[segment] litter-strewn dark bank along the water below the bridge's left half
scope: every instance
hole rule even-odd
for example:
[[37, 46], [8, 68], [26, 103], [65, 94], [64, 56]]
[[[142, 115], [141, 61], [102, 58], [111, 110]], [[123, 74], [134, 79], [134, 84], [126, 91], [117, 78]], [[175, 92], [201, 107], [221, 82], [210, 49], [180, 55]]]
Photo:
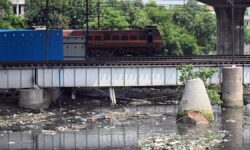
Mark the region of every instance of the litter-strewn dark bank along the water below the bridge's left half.
[[[138, 106], [129, 104], [118, 108], [111, 108], [105, 105], [103, 108], [98, 108], [95, 105], [96, 101], [92, 100], [69, 100], [64, 101], [64, 103], [65, 106], [63, 108], [51, 107], [39, 111], [22, 109], [15, 105], [1, 104], [0, 130], [15, 132], [40, 128], [48, 132], [81, 131], [90, 126], [97, 125], [113, 128], [115, 124], [119, 125], [127, 120], [164, 116], [162, 113], [141, 112], [143, 110], [136, 110]], [[8, 109], [3, 109], [4, 107]]]

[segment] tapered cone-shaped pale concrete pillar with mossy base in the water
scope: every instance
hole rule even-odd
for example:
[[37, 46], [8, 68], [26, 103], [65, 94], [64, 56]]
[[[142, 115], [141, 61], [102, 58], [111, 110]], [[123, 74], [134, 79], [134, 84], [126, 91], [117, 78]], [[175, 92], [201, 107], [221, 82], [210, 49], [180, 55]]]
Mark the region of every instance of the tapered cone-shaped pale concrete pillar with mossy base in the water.
[[213, 110], [203, 81], [188, 80], [177, 112], [177, 120], [188, 112], [200, 112], [207, 120], [214, 120]]

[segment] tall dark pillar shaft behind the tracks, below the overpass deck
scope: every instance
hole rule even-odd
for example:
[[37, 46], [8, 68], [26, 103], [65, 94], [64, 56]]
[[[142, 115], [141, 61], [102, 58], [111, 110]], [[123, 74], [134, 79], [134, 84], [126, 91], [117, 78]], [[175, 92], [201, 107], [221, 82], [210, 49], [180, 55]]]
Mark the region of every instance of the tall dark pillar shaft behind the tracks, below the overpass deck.
[[214, 7], [217, 17], [217, 54], [231, 55], [234, 49], [235, 55], [244, 54], [244, 13], [246, 7], [235, 7], [234, 32], [235, 44], [232, 45], [232, 8], [231, 7]]

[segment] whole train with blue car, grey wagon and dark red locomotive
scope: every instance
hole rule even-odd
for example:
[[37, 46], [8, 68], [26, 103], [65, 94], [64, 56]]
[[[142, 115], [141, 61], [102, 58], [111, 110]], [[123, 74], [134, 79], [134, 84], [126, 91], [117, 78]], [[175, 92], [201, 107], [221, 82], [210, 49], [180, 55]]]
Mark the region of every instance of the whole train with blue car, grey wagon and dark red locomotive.
[[0, 30], [0, 61], [161, 55], [156, 27], [129, 30]]

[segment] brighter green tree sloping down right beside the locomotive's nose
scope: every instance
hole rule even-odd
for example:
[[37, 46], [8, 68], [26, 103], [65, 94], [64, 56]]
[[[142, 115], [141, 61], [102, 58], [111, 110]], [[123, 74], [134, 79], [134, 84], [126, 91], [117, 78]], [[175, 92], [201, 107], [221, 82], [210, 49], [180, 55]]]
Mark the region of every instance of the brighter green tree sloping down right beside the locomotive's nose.
[[[176, 9], [176, 8], [175, 8]], [[186, 28], [174, 22], [172, 8], [166, 9], [150, 1], [144, 8], [153, 25], [157, 25], [165, 43], [164, 54], [167, 55], [198, 55], [200, 54], [197, 40], [189, 34]], [[183, 11], [178, 11], [183, 13]], [[177, 16], [177, 15], [176, 15]], [[184, 15], [180, 15], [185, 17]], [[183, 21], [184, 20], [184, 21]], [[186, 21], [185, 21], [186, 20]], [[187, 24], [188, 19], [179, 18], [177, 21]]]

